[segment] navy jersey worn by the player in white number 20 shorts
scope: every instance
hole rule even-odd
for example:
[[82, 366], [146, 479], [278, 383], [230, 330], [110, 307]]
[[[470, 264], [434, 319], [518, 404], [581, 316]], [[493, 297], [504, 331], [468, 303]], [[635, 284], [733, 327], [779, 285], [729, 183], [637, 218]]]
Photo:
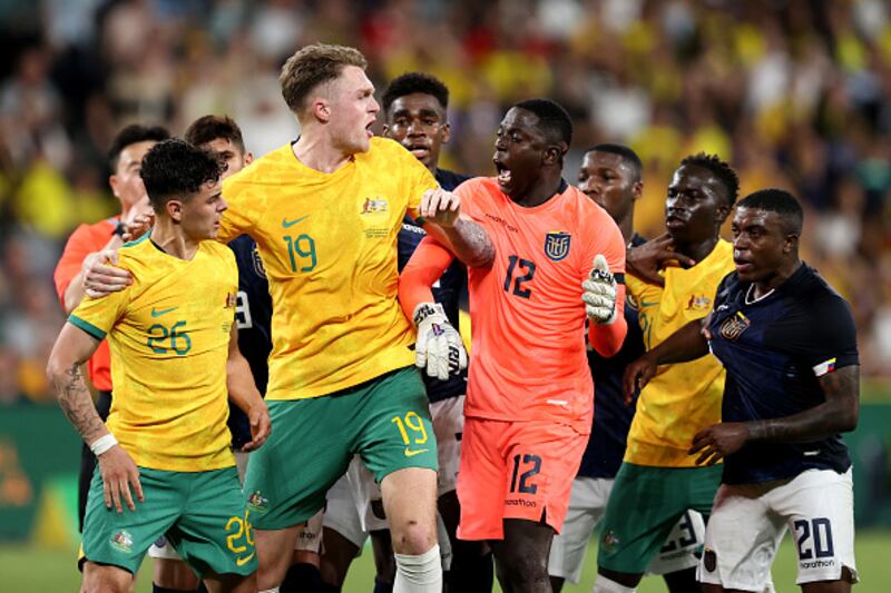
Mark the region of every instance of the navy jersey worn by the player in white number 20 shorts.
[[[825, 401], [819, 376], [859, 364], [848, 303], [810, 266], [753, 302], [754, 287], [736, 273], [718, 286], [708, 323], [709, 346], [727, 369], [723, 422], [799, 414]], [[812, 443], [752, 443], [724, 461], [724, 482], [793, 477], [805, 470], [845, 472], [840, 435]]]

